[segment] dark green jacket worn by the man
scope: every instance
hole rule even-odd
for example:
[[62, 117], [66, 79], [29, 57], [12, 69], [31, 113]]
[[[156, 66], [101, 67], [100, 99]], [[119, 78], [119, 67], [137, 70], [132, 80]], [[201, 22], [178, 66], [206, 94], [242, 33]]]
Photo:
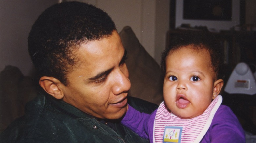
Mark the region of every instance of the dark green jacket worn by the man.
[[[129, 97], [128, 103], [141, 112], [151, 113], [157, 108], [157, 105], [138, 98]], [[0, 135], [0, 141], [8, 143], [149, 142], [119, 122], [112, 125], [116, 131], [63, 101], [38, 95], [26, 105], [25, 115], [9, 125]]]

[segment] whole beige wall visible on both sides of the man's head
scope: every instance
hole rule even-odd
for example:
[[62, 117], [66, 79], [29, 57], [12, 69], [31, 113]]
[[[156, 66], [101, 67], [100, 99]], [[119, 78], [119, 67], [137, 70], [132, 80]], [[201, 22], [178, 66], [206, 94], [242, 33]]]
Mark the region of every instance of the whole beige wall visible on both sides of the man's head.
[[[60, 0], [61, 1], [61, 0]], [[106, 11], [120, 32], [131, 26], [147, 52], [160, 63], [169, 26], [169, 0], [80, 0]], [[30, 75], [27, 37], [36, 18], [58, 0], [0, 0], [0, 71], [5, 65]]]

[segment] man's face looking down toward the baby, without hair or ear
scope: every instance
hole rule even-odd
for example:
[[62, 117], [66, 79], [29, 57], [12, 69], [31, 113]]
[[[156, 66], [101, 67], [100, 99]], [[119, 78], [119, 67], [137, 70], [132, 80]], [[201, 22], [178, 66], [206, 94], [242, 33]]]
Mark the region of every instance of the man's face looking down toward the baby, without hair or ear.
[[63, 101], [101, 119], [119, 119], [127, 109], [131, 87], [125, 64], [125, 49], [117, 31], [101, 40], [82, 44], [79, 61], [67, 74]]

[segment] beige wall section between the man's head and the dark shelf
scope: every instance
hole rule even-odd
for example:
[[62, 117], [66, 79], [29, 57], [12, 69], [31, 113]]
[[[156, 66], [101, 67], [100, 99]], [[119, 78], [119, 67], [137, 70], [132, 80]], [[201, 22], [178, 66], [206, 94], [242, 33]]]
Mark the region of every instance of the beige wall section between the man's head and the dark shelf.
[[[72, 1], [72, 0], [68, 0]], [[160, 63], [169, 29], [169, 0], [80, 0], [106, 11], [117, 26], [132, 27], [147, 52]]]

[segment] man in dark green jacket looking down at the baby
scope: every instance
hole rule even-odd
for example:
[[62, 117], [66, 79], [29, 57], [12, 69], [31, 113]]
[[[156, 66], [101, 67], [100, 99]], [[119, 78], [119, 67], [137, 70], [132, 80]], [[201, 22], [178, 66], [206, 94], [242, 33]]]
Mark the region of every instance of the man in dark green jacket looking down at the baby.
[[44, 92], [1, 141], [148, 142], [119, 123], [127, 102], [147, 113], [157, 106], [127, 97], [126, 51], [107, 13], [86, 3], [55, 4], [32, 26], [28, 49]]

